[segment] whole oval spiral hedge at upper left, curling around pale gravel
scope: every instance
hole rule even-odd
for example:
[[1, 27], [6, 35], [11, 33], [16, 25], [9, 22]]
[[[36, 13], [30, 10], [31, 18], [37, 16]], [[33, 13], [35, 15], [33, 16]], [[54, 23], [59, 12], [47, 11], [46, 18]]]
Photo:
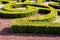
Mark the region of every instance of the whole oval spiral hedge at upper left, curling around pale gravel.
[[[18, 4], [18, 5], [17, 5]], [[25, 3], [8, 3], [5, 4], [3, 10], [0, 10], [0, 16], [14, 18], [14, 17], [27, 17], [38, 13], [39, 9], [44, 12], [49, 10], [48, 6], [38, 5], [38, 4], [25, 4]], [[12, 6], [13, 5], [13, 6]], [[28, 6], [29, 5], [29, 6]], [[12, 6], [12, 7], [11, 7]], [[14, 10], [14, 8], [25, 7], [26, 10]]]

